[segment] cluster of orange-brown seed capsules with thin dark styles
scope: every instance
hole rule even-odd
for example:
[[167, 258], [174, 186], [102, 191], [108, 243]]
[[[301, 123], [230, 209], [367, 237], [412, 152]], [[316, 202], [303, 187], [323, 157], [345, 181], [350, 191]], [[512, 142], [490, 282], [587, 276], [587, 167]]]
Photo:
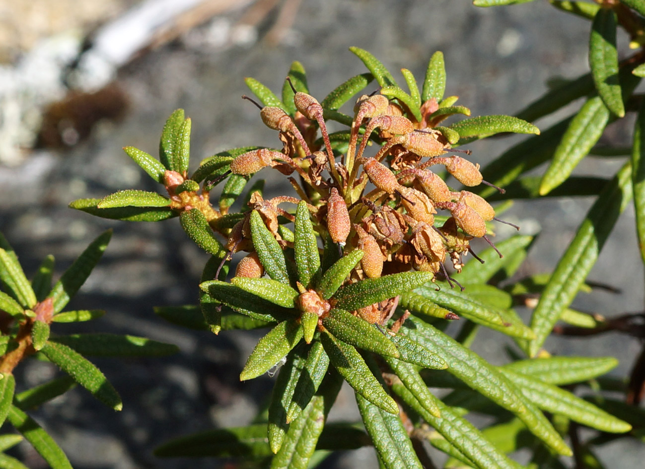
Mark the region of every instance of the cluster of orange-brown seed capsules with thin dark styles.
[[[266, 166], [285, 175], [299, 175], [299, 180], [291, 176], [288, 180], [300, 198], [264, 200], [255, 194], [249, 203], [281, 246], [286, 248], [291, 243], [281, 236], [278, 217], [293, 221], [293, 216], [279, 205], [301, 199], [308, 203], [319, 232], [326, 232], [341, 251], [359, 248], [364, 252], [350, 281], [415, 269], [444, 277], [452, 286], [455, 280], [444, 266], [446, 257], [455, 270], [461, 271], [462, 255], [472, 253], [473, 237], [482, 237], [493, 245], [486, 237], [486, 221], [495, 218], [495, 210], [477, 194], [453, 192], [428, 169], [441, 165], [462, 185], [477, 186], [486, 183], [479, 165], [458, 155], [446, 155], [463, 150], [451, 150], [439, 130], [428, 128], [426, 119], [405, 117], [401, 106], [384, 95], [363, 95], [354, 108], [348, 150], [337, 157], [332, 152], [323, 107], [311, 95], [293, 92], [298, 111], [295, 119], [279, 107], [262, 107], [253, 101], [261, 109], [264, 124], [279, 131], [283, 151], [253, 150], [237, 156], [231, 164], [232, 172], [239, 175], [250, 175]], [[431, 99], [421, 109], [424, 116], [430, 115], [437, 110], [437, 103]], [[324, 151], [315, 145], [316, 124]], [[364, 152], [376, 130], [383, 145], [368, 157]], [[442, 226], [434, 225], [437, 209], [450, 213]], [[233, 228], [228, 249], [250, 252], [239, 263], [237, 276], [263, 275], [252, 252], [248, 218]]]

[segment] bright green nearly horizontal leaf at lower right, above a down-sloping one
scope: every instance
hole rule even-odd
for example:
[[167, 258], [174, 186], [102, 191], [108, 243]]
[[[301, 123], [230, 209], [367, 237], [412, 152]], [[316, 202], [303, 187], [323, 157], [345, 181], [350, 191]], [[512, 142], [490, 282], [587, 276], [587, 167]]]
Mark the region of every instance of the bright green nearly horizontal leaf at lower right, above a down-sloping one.
[[617, 364], [614, 357], [548, 357], [515, 361], [505, 364], [504, 369], [563, 386], [604, 375]]

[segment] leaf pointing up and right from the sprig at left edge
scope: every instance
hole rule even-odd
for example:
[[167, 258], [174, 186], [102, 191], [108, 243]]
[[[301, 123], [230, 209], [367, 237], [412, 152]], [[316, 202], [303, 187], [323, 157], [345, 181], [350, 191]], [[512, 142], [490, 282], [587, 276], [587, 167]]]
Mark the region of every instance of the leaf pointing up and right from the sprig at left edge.
[[107, 230], [100, 234], [87, 248], [76, 258], [74, 263], [65, 270], [59, 281], [52, 288], [50, 297], [54, 301], [54, 312], [58, 313], [63, 310], [65, 305], [70, 301], [76, 292], [85, 283], [87, 277], [92, 273], [108, 247], [112, 237], [112, 230]]

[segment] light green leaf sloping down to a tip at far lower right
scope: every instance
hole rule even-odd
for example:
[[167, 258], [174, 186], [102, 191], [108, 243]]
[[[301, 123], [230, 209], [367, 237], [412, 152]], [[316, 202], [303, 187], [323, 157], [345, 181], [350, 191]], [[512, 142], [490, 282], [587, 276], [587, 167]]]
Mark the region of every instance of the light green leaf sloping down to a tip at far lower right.
[[631, 430], [631, 425], [627, 422], [600, 410], [564, 389], [508, 369], [501, 368], [501, 370], [526, 399], [546, 412], [565, 415], [573, 421], [602, 432], [625, 433]]

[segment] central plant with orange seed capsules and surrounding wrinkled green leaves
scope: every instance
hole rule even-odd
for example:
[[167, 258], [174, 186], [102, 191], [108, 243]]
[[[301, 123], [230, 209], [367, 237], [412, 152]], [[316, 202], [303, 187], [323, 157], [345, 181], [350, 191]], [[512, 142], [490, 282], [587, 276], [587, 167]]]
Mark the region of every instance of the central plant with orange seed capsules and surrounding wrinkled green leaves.
[[[610, 434], [630, 431], [630, 424], [560, 387], [594, 379], [617, 361], [536, 357], [544, 326], [527, 326], [514, 306], [544, 281], [500, 287], [532, 238], [515, 235], [494, 246], [497, 214], [508, 204], [493, 208], [475, 192], [504, 192], [495, 185], [519, 173], [509, 179], [513, 169], [503, 167], [482, 176], [471, 161], [476, 155], [455, 148], [539, 130], [517, 117], [470, 117], [456, 96], [444, 94], [441, 52], [432, 55], [419, 87], [410, 70], [401, 70], [401, 86], [372, 54], [350, 50], [368, 72], [320, 102], [298, 62], [281, 98], [246, 79], [255, 99], [245, 98], [278, 132], [281, 148], [221, 152], [189, 176], [191, 121], [177, 110], [164, 126], [159, 159], [124, 148], [166, 195], [123, 190], [71, 204], [120, 220], [179, 217], [211, 257], [199, 305], [159, 307], [157, 314], [215, 334], [268, 331], [240, 374], [244, 381], [277, 372], [266, 412], [249, 426], [180, 437], [157, 455], [241, 457], [259, 467], [304, 469], [328, 450], [373, 445], [382, 466], [412, 469], [432, 467], [422, 444], [429, 442], [450, 456], [449, 467], [518, 468], [508, 454], [521, 447], [533, 450], [536, 464], [570, 456], [563, 438], [568, 422]], [[446, 125], [455, 117], [461, 120]], [[328, 132], [330, 121], [344, 130]], [[256, 172], [275, 170], [292, 195], [264, 199], [263, 181], [246, 187]], [[222, 188], [213, 203], [216, 186]], [[239, 212], [231, 210], [236, 201]], [[491, 246], [482, 241], [475, 252], [471, 242], [478, 238]], [[455, 321], [461, 327], [453, 338], [444, 330]], [[496, 366], [470, 350], [480, 326], [515, 340], [511, 363]], [[360, 424], [326, 424], [343, 381], [355, 392]], [[470, 412], [492, 415], [493, 423], [477, 428], [466, 418]]]

